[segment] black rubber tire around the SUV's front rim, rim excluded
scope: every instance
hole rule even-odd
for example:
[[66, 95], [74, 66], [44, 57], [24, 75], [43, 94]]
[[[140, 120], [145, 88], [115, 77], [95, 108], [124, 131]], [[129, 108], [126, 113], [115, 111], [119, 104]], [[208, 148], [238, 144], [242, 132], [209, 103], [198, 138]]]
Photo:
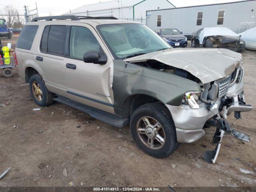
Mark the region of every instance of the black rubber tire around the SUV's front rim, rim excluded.
[[[144, 116], [150, 116], [154, 118], [161, 124], [162, 128], [164, 129], [166, 140], [162, 148], [157, 150], [150, 149], [140, 140], [137, 134], [136, 125], [140, 118]], [[143, 106], [137, 108], [130, 118], [130, 130], [136, 144], [150, 156], [156, 158], [165, 158], [178, 148], [176, 128], [172, 120], [172, 116], [168, 108], [159, 102], [144, 104]]]

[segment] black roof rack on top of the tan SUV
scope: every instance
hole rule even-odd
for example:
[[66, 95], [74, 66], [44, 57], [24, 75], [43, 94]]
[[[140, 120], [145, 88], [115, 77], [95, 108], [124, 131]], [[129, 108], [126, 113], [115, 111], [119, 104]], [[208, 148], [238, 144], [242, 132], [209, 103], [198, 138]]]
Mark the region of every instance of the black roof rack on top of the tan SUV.
[[36, 21], [40, 21], [40, 20], [52, 21], [53, 19], [58, 19], [58, 20], [65, 20], [65, 19], [71, 19], [71, 20], [81, 20], [81, 19], [111, 19], [111, 20], [118, 20], [118, 18], [112, 17], [112, 16], [90, 17], [90, 16], [76, 16], [76, 15], [61, 15], [61, 16], [36, 17], [36, 18], [32, 19], [31, 22], [36, 22]]

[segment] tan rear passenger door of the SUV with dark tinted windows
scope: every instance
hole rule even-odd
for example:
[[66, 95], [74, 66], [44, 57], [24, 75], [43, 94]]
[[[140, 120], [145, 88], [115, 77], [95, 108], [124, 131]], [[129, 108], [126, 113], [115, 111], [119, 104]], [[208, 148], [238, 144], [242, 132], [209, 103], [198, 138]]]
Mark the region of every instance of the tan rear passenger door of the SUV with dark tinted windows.
[[64, 44], [66, 25], [47, 25], [42, 32], [40, 52], [35, 54], [35, 66], [41, 68], [44, 82], [49, 91], [66, 96], [64, 77]]

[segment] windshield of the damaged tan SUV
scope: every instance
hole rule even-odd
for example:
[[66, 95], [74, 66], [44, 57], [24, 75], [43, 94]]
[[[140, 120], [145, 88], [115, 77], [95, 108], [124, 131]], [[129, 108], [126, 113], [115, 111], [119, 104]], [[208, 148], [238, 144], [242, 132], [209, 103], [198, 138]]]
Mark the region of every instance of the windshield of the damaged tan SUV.
[[132, 57], [169, 49], [154, 31], [143, 24], [108, 24], [97, 27], [115, 58]]

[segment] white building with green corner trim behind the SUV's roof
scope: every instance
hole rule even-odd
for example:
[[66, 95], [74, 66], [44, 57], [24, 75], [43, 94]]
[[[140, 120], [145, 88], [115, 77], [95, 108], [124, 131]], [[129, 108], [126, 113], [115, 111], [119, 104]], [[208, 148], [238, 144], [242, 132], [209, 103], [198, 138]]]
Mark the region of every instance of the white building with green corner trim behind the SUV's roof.
[[134, 20], [146, 24], [146, 10], [174, 8], [168, 0], [113, 0], [84, 5], [63, 15], [113, 16], [118, 19]]

